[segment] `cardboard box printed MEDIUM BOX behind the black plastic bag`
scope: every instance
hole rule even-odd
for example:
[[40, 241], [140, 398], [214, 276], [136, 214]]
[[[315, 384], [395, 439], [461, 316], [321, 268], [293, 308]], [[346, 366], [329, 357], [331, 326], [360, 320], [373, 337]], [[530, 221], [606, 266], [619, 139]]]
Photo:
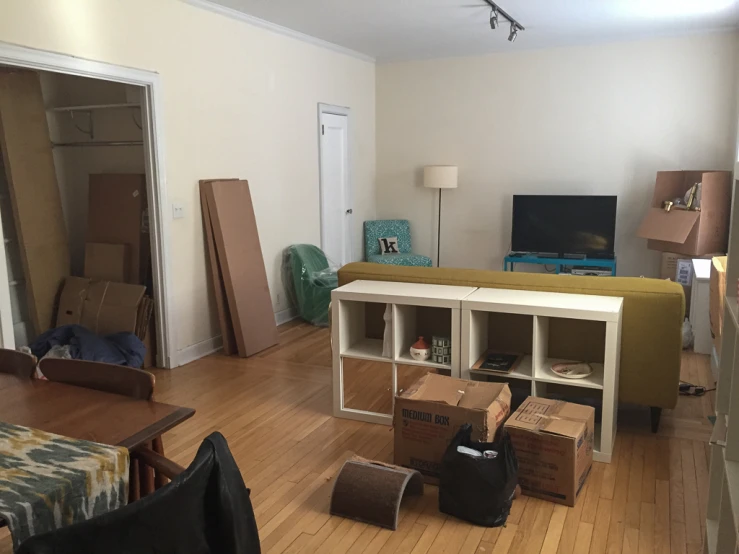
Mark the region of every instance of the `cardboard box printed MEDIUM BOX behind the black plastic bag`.
[[426, 482], [438, 483], [441, 459], [459, 428], [471, 423], [472, 440], [492, 441], [510, 409], [506, 383], [429, 373], [395, 399], [395, 464], [417, 469]]

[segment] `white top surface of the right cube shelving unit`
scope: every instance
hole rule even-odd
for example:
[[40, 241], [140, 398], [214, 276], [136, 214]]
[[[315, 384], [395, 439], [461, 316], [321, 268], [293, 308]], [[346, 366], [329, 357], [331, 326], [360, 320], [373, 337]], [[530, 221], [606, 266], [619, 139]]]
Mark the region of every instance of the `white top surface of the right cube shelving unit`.
[[500, 311], [510, 309], [515, 313], [536, 314], [545, 309], [561, 311], [564, 317], [566, 317], [566, 312], [579, 312], [616, 319], [621, 312], [623, 298], [566, 292], [481, 288], [464, 299], [462, 308], [484, 309], [485, 304], [501, 308]]

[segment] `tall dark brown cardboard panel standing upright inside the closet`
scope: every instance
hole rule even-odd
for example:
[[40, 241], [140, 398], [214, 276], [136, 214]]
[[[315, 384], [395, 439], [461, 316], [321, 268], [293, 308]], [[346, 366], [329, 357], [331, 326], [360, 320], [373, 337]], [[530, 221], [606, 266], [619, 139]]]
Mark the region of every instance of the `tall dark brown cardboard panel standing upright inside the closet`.
[[146, 284], [151, 248], [146, 200], [146, 176], [138, 173], [90, 175], [87, 242], [126, 244], [125, 281]]

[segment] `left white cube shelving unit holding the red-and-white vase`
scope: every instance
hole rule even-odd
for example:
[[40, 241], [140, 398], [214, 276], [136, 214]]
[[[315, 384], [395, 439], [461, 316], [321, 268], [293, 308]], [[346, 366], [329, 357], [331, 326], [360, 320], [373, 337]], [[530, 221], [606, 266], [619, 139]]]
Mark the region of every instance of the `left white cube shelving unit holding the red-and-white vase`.
[[[334, 290], [331, 294], [334, 415], [392, 425], [392, 410], [389, 413], [381, 413], [348, 408], [345, 405], [344, 365], [348, 360], [388, 364], [392, 375], [388, 394], [392, 395], [393, 401], [398, 392], [398, 366], [420, 366], [459, 377], [460, 302], [475, 290], [475, 287], [384, 281], [354, 281]], [[391, 356], [382, 355], [382, 339], [367, 337], [368, 304], [392, 307]], [[419, 334], [418, 312], [423, 308], [434, 309], [436, 315], [444, 321], [443, 328], [449, 330], [452, 355], [451, 363], [448, 365], [437, 364], [431, 360], [419, 362], [410, 356], [409, 349]], [[431, 341], [430, 336], [427, 339]]]

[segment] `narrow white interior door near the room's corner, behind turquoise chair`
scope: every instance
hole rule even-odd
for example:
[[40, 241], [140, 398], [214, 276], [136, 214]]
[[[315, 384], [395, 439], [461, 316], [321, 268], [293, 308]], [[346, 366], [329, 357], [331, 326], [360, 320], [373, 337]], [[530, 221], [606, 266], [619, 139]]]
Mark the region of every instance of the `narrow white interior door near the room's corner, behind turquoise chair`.
[[347, 115], [321, 112], [321, 248], [340, 266], [352, 260], [348, 123]]

